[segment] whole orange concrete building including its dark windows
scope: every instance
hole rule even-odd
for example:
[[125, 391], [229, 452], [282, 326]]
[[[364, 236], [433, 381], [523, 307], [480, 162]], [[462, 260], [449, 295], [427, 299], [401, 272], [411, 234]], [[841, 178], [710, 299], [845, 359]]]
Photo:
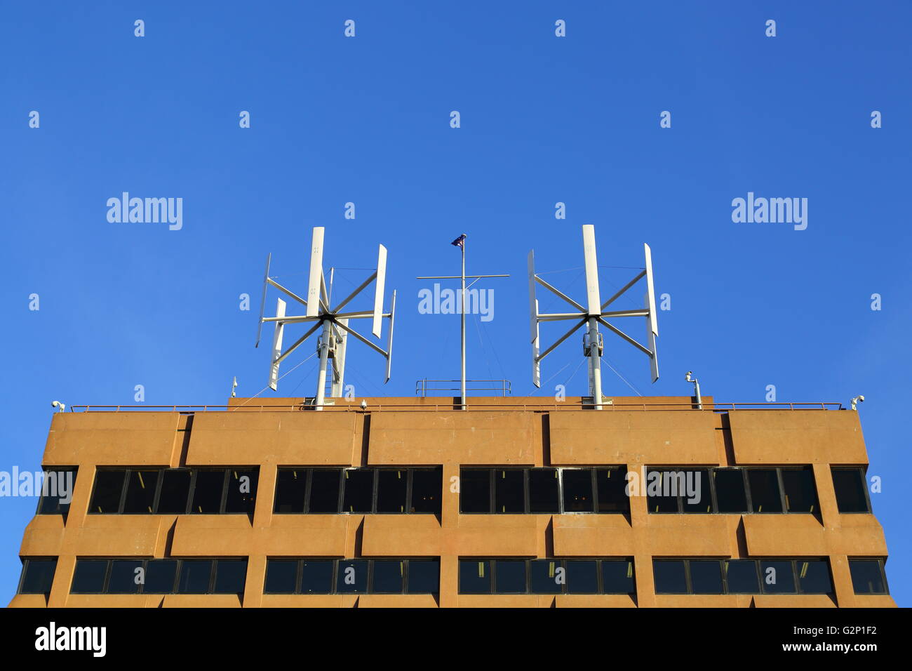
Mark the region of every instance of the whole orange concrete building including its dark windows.
[[55, 414], [10, 605], [896, 605], [835, 404], [366, 401]]

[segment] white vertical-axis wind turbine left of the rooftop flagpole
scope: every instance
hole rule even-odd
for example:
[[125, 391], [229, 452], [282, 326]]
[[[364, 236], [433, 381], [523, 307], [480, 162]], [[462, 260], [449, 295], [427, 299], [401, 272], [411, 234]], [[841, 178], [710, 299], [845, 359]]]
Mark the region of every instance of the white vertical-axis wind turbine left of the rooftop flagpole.
[[[395, 291], [392, 293], [389, 312], [383, 311], [383, 292], [387, 278], [387, 248], [382, 245], [378, 247], [377, 269], [345, 299], [340, 301], [335, 307], [330, 308], [331, 304], [329, 300], [331, 294], [327, 293], [326, 278], [323, 274], [324, 230], [323, 226], [316, 226], [313, 230], [310, 246], [310, 272], [308, 274], [306, 299], [301, 298], [293, 291], [276, 282], [275, 279], [269, 277], [269, 265], [272, 260], [272, 255], [270, 254], [266, 257], [266, 271], [263, 278], [263, 301], [260, 304], [260, 321], [256, 330], [256, 345], [254, 345], [255, 347], [258, 347], [260, 344], [264, 322], [275, 322], [273, 354], [269, 370], [269, 387], [275, 391], [279, 380], [279, 364], [285, 361], [285, 358], [303, 344], [307, 338], [313, 335], [316, 330], [322, 330], [316, 343], [316, 351], [320, 354], [320, 368], [316, 380], [316, 397], [314, 399], [316, 410], [323, 410], [323, 407], [326, 404], [326, 372], [328, 371], [330, 361], [332, 361], [333, 372], [330, 394], [335, 398], [342, 395], [343, 385], [345, 383], [345, 359], [348, 335], [354, 336], [387, 360], [387, 378], [384, 383], [389, 382], [389, 369], [392, 363], [393, 351], [393, 320], [396, 315]], [[332, 275], [331, 271], [330, 278], [332, 278]], [[347, 304], [358, 296], [362, 290], [368, 288], [371, 282], [375, 283], [373, 309], [342, 312], [341, 309], [347, 306]], [[275, 317], [264, 317], [266, 288], [270, 286], [277, 288], [284, 293], [285, 296], [294, 299], [303, 305], [306, 308], [305, 314], [297, 316], [286, 315], [285, 300], [276, 299]], [[329, 291], [331, 290], [332, 285], [330, 285], [329, 288]], [[380, 337], [383, 320], [389, 320], [389, 336], [387, 349], [385, 351], [373, 342], [368, 341], [368, 339], [358, 333], [358, 331], [348, 326], [350, 320], [362, 319], [372, 320], [371, 333], [377, 338]], [[304, 335], [298, 338], [286, 350], [282, 349], [285, 325], [311, 322], [313, 323], [313, 326], [306, 330]]]

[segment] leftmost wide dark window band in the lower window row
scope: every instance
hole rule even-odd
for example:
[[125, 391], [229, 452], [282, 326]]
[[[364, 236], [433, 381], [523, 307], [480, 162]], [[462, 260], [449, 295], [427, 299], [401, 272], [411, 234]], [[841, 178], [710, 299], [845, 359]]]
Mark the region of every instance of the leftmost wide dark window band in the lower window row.
[[72, 594], [243, 594], [246, 559], [79, 559]]

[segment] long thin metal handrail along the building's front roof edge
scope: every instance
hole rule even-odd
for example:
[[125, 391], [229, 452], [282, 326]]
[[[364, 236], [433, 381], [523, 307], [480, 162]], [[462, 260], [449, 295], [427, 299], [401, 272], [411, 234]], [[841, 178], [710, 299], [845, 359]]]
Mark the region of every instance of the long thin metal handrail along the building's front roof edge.
[[[360, 404], [355, 401], [346, 402], [339, 405], [324, 405], [324, 412], [448, 412], [458, 410], [458, 404], [369, 404], [367, 410], [363, 410]], [[544, 412], [544, 411], [577, 411], [593, 412], [586, 408], [589, 403], [567, 404], [566, 402], [553, 402], [550, 404], [482, 404], [470, 403], [466, 406], [467, 411], [475, 412]], [[313, 410], [316, 406], [310, 404], [292, 404], [292, 405], [70, 405], [71, 413], [121, 413], [121, 412], [173, 412], [173, 413], [213, 413], [213, 412], [233, 412], [244, 408], [244, 412], [258, 411], [261, 413], [287, 413]], [[696, 411], [696, 412], [731, 412], [738, 410], [845, 410], [841, 403], [815, 402], [815, 403], [751, 403], [751, 402], [724, 402], [724, 403], [703, 403], [702, 408], [697, 408], [694, 404], [605, 404], [601, 412], [615, 412], [619, 410], [672, 410], [672, 411]], [[462, 412], [462, 411], [460, 411]]]

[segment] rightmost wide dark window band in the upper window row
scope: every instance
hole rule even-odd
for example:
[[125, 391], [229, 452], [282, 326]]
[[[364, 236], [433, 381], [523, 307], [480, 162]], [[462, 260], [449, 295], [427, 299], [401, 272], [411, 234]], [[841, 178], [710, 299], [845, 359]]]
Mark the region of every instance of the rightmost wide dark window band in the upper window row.
[[650, 513], [818, 512], [812, 467], [649, 469]]

